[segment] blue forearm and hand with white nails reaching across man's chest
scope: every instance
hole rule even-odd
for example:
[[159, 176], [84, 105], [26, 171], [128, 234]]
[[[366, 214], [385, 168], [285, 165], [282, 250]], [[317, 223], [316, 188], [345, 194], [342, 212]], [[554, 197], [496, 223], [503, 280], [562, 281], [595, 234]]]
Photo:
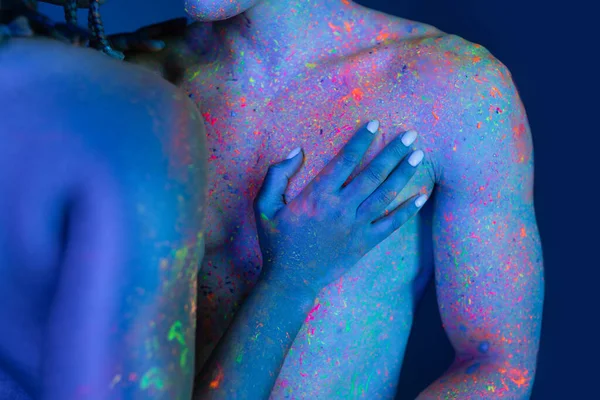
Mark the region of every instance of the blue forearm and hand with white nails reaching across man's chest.
[[360, 129], [289, 204], [283, 194], [302, 164], [299, 149], [269, 169], [255, 200], [263, 276], [201, 371], [197, 399], [267, 399], [317, 293], [424, 204], [419, 196], [387, 210], [386, 199], [402, 190], [422, 159], [420, 151], [407, 156], [414, 132], [392, 141], [343, 186], [377, 127], [373, 121]]

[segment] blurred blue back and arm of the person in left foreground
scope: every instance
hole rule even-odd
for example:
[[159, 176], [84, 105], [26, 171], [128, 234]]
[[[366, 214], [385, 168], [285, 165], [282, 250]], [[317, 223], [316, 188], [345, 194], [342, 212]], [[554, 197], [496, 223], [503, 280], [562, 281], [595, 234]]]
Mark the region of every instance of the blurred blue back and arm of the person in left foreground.
[[27, 398], [189, 399], [196, 108], [154, 74], [40, 38], [2, 43], [0, 87], [0, 380]]

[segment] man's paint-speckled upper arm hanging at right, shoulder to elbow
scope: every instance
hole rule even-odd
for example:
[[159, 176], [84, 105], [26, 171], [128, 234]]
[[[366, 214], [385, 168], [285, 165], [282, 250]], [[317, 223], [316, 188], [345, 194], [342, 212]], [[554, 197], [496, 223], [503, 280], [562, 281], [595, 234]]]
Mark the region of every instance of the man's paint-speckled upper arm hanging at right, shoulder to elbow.
[[515, 393], [530, 390], [543, 302], [533, 152], [510, 73], [479, 53], [464, 57], [450, 82], [444, 117], [452, 132], [438, 149], [435, 277], [455, 366], [467, 374], [493, 368], [500, 382], [487, 390]]

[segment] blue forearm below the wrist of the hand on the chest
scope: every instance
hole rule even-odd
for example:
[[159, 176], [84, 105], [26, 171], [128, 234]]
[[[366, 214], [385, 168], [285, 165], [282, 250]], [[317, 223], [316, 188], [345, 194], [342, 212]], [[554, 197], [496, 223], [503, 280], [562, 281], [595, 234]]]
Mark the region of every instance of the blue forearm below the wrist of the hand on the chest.
[[259, 282], [196, 382], [196, 399], [267, 399], [314, 297]]

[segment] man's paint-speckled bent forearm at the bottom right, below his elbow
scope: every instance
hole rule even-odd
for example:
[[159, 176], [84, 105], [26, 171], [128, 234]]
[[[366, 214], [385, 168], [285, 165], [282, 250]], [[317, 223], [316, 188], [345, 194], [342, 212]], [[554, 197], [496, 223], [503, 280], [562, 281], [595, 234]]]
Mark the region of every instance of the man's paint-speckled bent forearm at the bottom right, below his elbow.
[[529, 399], [533, 370], [513, 363], [483, 358], [455, 362], [417, 400], [496, 399], [500, 396], [514, 400]]

